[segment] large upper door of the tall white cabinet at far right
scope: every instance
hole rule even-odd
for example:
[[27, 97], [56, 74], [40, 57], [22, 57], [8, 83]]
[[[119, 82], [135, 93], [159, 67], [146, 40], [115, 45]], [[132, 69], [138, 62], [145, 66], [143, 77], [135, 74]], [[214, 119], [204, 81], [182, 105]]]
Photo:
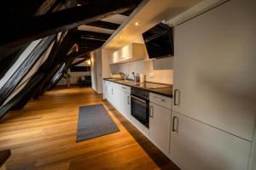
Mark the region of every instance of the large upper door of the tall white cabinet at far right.
[[256, 1], [233, 0], [175, 28], [172, 110], [252, 141]]

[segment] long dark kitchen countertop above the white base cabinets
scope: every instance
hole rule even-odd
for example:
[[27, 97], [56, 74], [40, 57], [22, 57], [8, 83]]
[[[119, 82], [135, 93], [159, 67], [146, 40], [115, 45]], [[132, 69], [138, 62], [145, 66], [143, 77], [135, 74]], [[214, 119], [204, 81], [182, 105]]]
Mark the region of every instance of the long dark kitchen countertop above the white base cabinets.
[[[104, 78], [103, 80], [106, 80], [108, 82], [115, 82], [115, 83], [122, 84], [129, 87], [142, 88], [144, 90], [148, 90], [150, 93], [160, 94], [160, 95], [172, 98], [171, 84], [163, 84], [163, 83], [157, 83], [157, 82], [140, 83], [140, 82], [134, 82], [134, 81], [115, 80], [112, 78]], [[145, 87], [149, 87], [149, 88], [145, 88]]]

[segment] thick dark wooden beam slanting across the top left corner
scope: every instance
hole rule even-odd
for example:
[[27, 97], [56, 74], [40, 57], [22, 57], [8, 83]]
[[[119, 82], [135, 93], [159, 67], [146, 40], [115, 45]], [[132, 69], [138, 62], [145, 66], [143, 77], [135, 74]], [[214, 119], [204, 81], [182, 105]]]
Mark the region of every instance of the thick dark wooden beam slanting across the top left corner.
[[20, 20], [19, 16], [16, 16], [14, 20], [2, 23], [0, 53], [20, 43], [70, 30], [112, 14], [124, 13], [131, 8], [136, 8], [140, 2], [141, 0], [104, 0], [27, 19]]

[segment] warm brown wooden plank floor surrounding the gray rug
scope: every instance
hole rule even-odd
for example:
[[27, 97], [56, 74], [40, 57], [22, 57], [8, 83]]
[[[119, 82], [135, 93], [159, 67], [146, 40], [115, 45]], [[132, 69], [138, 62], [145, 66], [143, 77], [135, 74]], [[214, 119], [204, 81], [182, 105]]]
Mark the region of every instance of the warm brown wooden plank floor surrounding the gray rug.
[[[105, 105], [120, 132], [76, 143], [79, 106]], [[0, 121], [9, 170], [177, 169], [91, 88], [56, 88]]]

